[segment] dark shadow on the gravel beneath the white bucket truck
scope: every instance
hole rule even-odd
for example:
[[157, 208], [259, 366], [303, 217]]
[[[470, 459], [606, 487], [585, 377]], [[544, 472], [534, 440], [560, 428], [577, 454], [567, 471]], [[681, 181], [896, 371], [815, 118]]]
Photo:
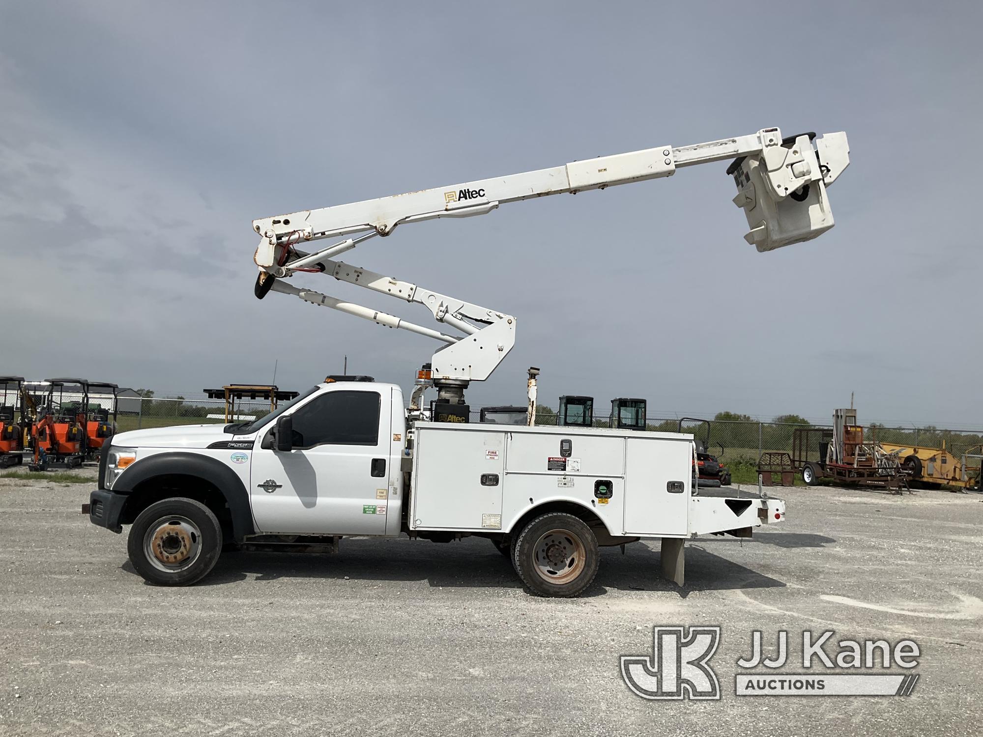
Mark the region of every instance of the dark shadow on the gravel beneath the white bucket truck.
[[[129, 560], [121, 568], [139, 575]], [[485, 539], [445, 544], [405, 539], [343, 539], [337, 553], [223, 552], [211, 573], [197, 586], [224, 586], [251, 577], [255, 581], [348, 578], [427, 581], [434, 588], [522, 588], [509, 560]], [[689, 544], [686, 586], [680, 589], [661, 577], [659, 550], [635, 543], [626, 545], [623, 555], [617, 547], [602, 548], [597, 578], [581, 596], [600, 596], [615, 590], [669, 592], [685, 597], [697, 591], [783, 586], [781, 581]]]

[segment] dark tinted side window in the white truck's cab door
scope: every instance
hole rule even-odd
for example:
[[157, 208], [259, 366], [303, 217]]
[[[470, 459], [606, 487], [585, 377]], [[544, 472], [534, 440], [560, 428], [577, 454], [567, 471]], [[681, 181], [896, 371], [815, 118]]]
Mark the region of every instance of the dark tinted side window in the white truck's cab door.
[[294, 448], [377, 445], [381, 396], [375, 391], [331, 391], [293, 413]]

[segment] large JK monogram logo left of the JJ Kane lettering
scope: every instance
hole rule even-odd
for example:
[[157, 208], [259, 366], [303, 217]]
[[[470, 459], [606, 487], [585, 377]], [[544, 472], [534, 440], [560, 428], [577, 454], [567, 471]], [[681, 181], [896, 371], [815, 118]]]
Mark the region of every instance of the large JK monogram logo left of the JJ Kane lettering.
[[721, 698], [710, 658], [721, 642], [720, 627], [655, 627], [652, 655], [621, 655], [621, 677], [643, 699]]

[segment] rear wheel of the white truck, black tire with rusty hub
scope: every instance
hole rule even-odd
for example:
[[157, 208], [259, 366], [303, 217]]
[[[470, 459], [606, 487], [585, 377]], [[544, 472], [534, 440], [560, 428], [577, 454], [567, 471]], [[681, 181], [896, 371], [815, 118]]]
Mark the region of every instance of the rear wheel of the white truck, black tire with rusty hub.
[[530, 594], [576, 596], [598, 574], [598, 539], [583, 520], [549, 512], [512, 542], [512, 565]]

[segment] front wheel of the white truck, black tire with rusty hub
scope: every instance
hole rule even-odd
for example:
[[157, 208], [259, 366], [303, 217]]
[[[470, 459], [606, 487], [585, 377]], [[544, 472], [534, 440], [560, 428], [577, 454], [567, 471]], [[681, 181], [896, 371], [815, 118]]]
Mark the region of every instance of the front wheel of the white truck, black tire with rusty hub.
[[176, 497], [148, 506], [127, 540], [130, 562], [156, 586], [191, 586], [215, 566], [222, 527], [202, 502]]

